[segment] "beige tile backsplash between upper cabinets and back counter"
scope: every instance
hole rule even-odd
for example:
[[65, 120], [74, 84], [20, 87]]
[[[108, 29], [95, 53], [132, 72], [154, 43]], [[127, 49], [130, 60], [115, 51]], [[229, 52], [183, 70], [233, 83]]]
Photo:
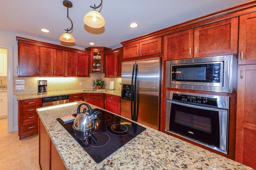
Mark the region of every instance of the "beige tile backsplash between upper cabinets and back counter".
[[[90, 77], [13, 77], [13, 94], [36, 94], [38, 93], [37, 80], [47, 80], [47, 91], [56, 92], [64, 90], [92, 89], [92, 80], [102, 79], [105, 81], [106, 89], [109, 82], [114, 81], [114, 90], [121, 90], [121, 78], [104, 77], [104, 73], [90, 73]], [[15, 80], [24, 80], [24, 90], [15, 90]], [[82, 86], [80, 86], [82, 82]], [[103, 86], [105, 88], [105, 86]]]

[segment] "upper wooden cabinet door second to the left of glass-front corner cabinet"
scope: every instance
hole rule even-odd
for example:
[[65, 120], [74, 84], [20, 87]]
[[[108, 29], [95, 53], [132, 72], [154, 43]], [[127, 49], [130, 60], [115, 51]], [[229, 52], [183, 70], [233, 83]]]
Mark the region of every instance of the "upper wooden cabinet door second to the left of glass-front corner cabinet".
[[78, 55], [74, 52], [66, 51], [65, 76], [77, 76]]

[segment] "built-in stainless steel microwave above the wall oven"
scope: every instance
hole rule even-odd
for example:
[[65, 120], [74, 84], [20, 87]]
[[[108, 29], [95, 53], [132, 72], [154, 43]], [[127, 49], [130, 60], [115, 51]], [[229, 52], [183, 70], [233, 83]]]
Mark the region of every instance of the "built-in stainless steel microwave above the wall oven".
[[232, 92], [235, 55], [166, 61], [166, 87]]

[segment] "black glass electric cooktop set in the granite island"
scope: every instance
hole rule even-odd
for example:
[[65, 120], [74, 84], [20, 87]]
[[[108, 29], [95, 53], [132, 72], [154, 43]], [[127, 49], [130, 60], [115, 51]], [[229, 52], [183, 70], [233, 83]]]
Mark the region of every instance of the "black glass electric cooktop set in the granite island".
[[57, 120], [96, 163], [106, 159], [146, 129], [108, 111], [93, 111], [98, 118], [95, 120], [95, 127], [89, 131], [76, 131], [72, 127], [73, 122], [63, 124], [60, 118]]

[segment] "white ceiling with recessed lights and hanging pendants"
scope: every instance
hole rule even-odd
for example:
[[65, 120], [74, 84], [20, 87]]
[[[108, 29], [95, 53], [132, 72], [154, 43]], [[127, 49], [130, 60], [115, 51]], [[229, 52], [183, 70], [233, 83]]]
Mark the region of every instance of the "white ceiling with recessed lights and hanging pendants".
[[[67, 8], [63, 0], [1, 0], [0, 30], [9, 31], [35, 39], [42, 39], [62, 45], [59, 37], [70, 29]], [[70, 0], [68, 16], [73, 22], [72, 35], [76, 39], [70, 47], [84, 49], [90, 47], [121, 47], [126, 41], [192, 20], [200, 16], [223, 10], [248, 0], [103, 0], [100, 14], [106, 24], [92, 29], [84, 24], [84, 15], [91, 11], [90, 6], [98, 6], [100, 0]], [[137, 28], [129, 24], [136, 22]], [[50, 33], [43, 33], [46, 28]]]

